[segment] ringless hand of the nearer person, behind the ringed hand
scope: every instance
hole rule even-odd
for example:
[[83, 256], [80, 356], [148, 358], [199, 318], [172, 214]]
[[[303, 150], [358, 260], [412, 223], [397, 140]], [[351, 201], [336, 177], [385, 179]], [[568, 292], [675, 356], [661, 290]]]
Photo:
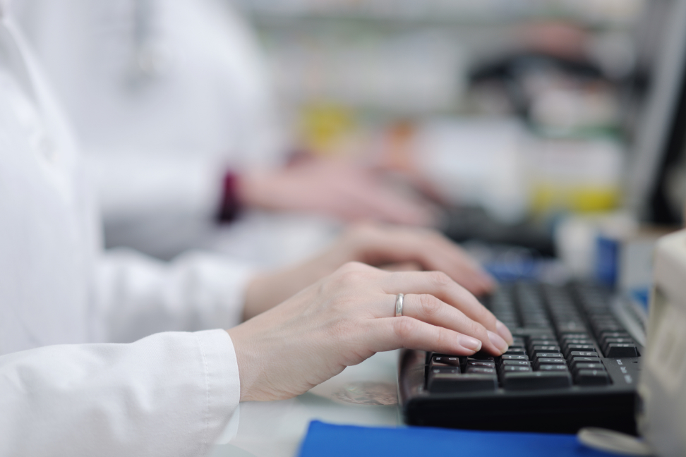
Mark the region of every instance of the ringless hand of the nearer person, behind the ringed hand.
[[476, 295], [494, 281], [458, 245], [431, 229], [357, 224], [322, 254], [289, 269], [256, 276], [246, 291], [243, 317], [249, 319], [286, 300], [346, 262], [390, 269], [445, 272]]

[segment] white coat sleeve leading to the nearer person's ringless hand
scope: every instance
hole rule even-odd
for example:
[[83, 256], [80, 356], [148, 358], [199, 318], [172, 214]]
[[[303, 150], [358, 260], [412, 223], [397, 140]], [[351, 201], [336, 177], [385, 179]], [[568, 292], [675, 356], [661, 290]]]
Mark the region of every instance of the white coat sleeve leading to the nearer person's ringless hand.
[[162, 262], [128, 249], [106, 251], [97, 265], [94, 339], [130, 343], [159, 331], [234, 327], [253, 273], [205, 252]]

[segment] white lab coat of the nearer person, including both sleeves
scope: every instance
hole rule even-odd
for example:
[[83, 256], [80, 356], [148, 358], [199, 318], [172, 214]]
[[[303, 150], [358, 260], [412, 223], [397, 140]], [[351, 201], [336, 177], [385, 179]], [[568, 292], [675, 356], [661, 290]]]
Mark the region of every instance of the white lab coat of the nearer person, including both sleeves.
[[202, 455], [239, 403], [222, 329], [250, 272], [105, 254], [82, 168], [0, 3], [0, 456]]

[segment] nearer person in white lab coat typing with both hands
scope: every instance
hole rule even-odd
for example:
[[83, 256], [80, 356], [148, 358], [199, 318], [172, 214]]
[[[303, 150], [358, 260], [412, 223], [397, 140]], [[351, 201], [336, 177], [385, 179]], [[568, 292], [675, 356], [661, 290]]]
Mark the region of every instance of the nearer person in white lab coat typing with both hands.
[[[0, 455], [203, 455], [239, 401], [291, 398], [377, 351], [507, 350], [507, 328], [448, 274], [475, 292], [488, 277], [435, 233], [363, 227], [258, 275], [218, 255], [166, 264], [104, 252], [78, 148], [7, 8], [0, 1]], [[449, 273], [337, 269], [353, 257]]]

